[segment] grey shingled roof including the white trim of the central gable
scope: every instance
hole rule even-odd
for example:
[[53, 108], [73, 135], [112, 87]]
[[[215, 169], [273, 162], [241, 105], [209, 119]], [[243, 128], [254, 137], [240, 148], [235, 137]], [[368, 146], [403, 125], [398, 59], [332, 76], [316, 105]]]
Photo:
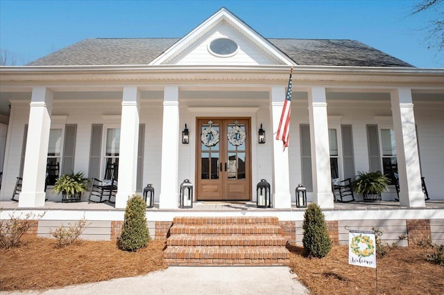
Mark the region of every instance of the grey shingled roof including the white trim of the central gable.
[[187, 54], [205, 34], [225, 26], [275, 64], [314, 66], [413, 67], [407, 62], [354, 40], [266, 39], [244, 21], [221, 8], [182, 38], [85, 39], [46, 55], [28, 66], [169, 64]]

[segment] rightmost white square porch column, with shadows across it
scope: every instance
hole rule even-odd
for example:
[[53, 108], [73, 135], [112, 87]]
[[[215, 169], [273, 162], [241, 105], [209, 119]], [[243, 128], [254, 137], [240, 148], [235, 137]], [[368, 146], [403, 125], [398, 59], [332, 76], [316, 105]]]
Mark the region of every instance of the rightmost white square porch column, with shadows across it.
[[425, 207], [411, 89], [390, 93], [400, 180], [400, 206]]

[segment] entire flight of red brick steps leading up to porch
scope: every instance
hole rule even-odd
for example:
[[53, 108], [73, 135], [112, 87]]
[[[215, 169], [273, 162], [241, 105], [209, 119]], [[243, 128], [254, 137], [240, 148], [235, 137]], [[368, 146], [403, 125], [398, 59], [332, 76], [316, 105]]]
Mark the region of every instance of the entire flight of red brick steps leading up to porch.
[[175, 217], [164, 250], [168, 265], [289, 264], [277, 217]]

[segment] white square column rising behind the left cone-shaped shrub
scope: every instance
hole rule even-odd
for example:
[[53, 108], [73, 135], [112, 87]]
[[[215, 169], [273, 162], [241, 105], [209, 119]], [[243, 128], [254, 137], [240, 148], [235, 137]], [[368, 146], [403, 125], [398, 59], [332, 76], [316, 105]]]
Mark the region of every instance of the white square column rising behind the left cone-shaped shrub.
[[137, 87], [123, 87], [116, 208], [125, 208], [128, 198], [136, 191], [139, 96]]

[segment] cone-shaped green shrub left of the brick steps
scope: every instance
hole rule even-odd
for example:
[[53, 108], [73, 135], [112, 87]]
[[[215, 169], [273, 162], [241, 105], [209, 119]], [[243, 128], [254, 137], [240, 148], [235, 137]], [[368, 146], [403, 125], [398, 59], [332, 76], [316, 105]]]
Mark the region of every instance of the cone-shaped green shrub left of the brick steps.
[[139, 195], [133, 195], [126, 204], [125, 219], [119, 238], [119, 247], [124, 251], [137, 251], [145, 247], [150, 240], [146, 226], [146, 204]]

